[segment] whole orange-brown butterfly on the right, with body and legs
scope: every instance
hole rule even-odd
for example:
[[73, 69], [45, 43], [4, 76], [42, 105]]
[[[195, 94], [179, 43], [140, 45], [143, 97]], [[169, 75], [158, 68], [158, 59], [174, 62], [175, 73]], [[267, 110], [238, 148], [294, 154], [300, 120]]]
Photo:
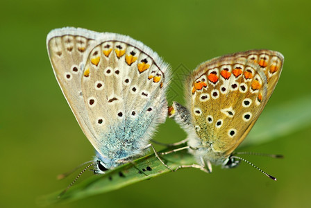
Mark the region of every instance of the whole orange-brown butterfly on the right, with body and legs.
[[198, 163], [180, 168], [193, 167], [210, 173], [212, 164], [224, 168], [233, 168], [240, 160], [251, 164], [233, 151], [269, 101], [283, 61], [279, 52], [252, 50], [199, 64], [186, 81], [186, 106], [174, 102], [169, 107], [169, 116], [188, 135], [185, 139], [188, 146], [179, 150], [189, 149]]

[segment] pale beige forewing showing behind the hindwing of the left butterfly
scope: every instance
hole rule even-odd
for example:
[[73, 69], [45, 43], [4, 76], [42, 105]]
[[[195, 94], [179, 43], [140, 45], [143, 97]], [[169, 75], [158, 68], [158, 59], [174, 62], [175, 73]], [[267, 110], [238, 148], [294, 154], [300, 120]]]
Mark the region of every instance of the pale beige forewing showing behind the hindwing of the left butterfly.
[[96, 43], [98, 33], [82, 28], [60, 28], [47, 36], [49, 58], [58, 84], [84, 134], [94, 144], [94, 133], [82, 96], [85, 58]]

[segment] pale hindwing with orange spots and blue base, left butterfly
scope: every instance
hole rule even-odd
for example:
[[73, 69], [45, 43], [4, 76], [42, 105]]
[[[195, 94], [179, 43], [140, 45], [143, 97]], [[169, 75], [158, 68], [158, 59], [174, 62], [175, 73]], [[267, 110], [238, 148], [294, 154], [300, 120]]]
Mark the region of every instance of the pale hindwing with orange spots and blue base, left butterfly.
[[131, 37], [102, 33], [83, 72], [86, 113], [96, 150], [125, 159], [139, 154], [167, 117], [168, 65]]

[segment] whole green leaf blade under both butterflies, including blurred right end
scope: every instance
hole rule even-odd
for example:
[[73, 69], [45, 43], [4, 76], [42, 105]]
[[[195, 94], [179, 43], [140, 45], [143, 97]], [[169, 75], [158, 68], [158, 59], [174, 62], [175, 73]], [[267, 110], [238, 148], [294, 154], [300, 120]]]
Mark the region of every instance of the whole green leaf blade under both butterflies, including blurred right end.
[[[261, 144], [310, 126], [310, 106], [311, 97], [308, 96], [283, 103], [282, 105], [274, 107], [274, 109], [267, 110], [258, 123], [255, 124], [243, 145]], [[163, 150], [162, 152], [166, 152], [167, 150]], [[169, 155], [162, 155], [160, 157], [173, 169], [181, 164], [194, 164], [195, 162], [194, 157], [187, 153], [187, 150]], [[148, 171], [147, 166], [152, 170]], [[60, 198], [58, 198], [58, 195], [62, 190], [44, 196], [40, 198], [38, 202], [41, 205], [71, 202], [86, 198], [87, 196], [120, 189], [121, 187], [126, 187], [130, 184], [148, 180], [152, 177], [169, 172], [171, 171], [161, 164], [154, 154], [147, 155], [140, 159], [136, 159], [133, 164], [119, 166], [112, 171], [108, 171], [104, 175], [94, 175], [79, 184], [74, 184], [74, 186]]]

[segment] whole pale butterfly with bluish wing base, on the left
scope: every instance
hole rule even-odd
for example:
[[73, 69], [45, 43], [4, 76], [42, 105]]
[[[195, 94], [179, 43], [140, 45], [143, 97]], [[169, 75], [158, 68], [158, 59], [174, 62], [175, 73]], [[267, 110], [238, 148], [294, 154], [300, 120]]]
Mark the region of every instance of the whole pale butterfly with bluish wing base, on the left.
[[153, 148], [151, 135], [167, 118], [170, 77], [157, 53], [125, 35], [70, 27], [51, 31], [47, 50], [62, 93], [96, 151], [94, 173]]

